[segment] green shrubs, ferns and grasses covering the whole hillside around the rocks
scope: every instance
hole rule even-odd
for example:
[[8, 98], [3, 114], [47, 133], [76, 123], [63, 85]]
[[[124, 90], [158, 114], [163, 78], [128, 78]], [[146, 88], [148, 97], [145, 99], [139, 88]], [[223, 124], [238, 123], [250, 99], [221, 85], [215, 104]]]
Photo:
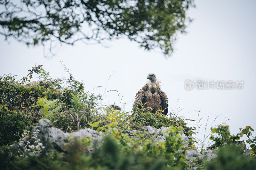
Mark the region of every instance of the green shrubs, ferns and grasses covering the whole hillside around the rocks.
[[[237, 161], [243, 167], [255, 169], [255, 140], [253, 129], [247, 126], [237, 135], [230, 135], [228, 126], [212, 128], [211, 139], [220, 147], [218, 156], [206, 162], [203, 159], [188, 161], [187, 149], [195, 149], [193, 135], [195, 127], [188, 127], [188, 119], [177, 115], [166, 117], [158, 112], [151, 114], [151, 108], [125, 112], [114, 110], [98, 103], [101, 95], [85, 90], [83, 82], [76, 81], [69, 70], [68, 79], [53, 79], [42, 66], [32, 67], [21, 80], [11, 74], [0, 76], [0, 159], [3, 169], [190, 169], [196, 164], [199, 169], [221, 169], [223, 160], [238, 155]], [[30, 82], [37, 74], [38, 81]], [[69, 139], [67, 152], [52, 150], [52, 145], [35, 141], [37, 147], [19, 151], [12, 146], [20, 139], [37, 132], [31, 130], [39, 120], [47, 118], [51, 124], [64, 132], [92, 128], [103, 132], [102, 144], [93, 144], [90, 138]], [[170, 127], [163, 143], [154, 143], [150, 135], [143, 133], [143, 126], [160, 129]], [[180, 133], [189, 139], [188, 148], [183, 147]], [[247, 135], [251, 153], [244, 155], [240, 146], [235, 145], [242, 135]], [[40, 145], [38, 145], [40, 143]], [[231, 147], [224, 147], [228, 145]], [[232, 149], [233, 148], [233, 149]], [[34, 154], [31, 154], [33, 152]], [[235, 153], [236, 152], [236, 153]], [[240, 156], [239, 156], [240, 155]], [[212, 163], [214, 162], [215, 163]], [[225, 163], [224, 163], [225, 164]], [[236, 165], [223, 167], [233, 167]]]

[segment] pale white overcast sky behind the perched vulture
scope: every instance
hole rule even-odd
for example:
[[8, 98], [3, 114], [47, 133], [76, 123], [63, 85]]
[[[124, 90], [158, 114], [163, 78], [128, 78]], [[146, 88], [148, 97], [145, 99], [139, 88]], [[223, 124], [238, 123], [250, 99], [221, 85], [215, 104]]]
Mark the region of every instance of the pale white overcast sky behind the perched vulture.
[[[109, 42], [109, 48], [101, 45], [63, 45], [57, 48], [56, 56], [44, 58], [43, 47], [28, 48], [26, 45], [0, 37], [0, 74], [17, 74], [22, 78], [28, 69], [43, 65], [53, 78], [68, 76], [61, 68], [60, 60], [70, 68], [77, 80], [83, 80], [85, 88], [103, 94], [103, 102], [120, 103], [126, 111], [132, 109], [136, 92], [147, 81], [148, 73], [154, 72], [162, 82], [169, 107], [184, 108], [178, 113], [196, 119], [201, 110], [201, 122], [206, 123], [208, 114], [211, 125], [226, 117], [231, 133], [240, 127], [251, 125], [256, 130], [255, 104], [255, 57], [256, 57], [256, 1], [254, 0], [195, 0], [196, 8], [188, 16], [194, 21], [187, 34], [179, 35], [171, 58], [162, 53], [144, 51], [136, 42], [125, 38]], [[109, 76], [110, 80], [108, 81]], [[197, 90], [187, 91], [184, 81], [244, 81], [242, 90]], [[108, 84], [107, 84], [108, 82]], [[169, 109], [170, 112], [171, 109]], [[193, 122], [189, 123], [190, 125]], [[198, 130], [199, 132], [202, 129]], [[198, 135], [200, 138], [200, 135]], [[201, 136], [202, 137], [202, 136]]]

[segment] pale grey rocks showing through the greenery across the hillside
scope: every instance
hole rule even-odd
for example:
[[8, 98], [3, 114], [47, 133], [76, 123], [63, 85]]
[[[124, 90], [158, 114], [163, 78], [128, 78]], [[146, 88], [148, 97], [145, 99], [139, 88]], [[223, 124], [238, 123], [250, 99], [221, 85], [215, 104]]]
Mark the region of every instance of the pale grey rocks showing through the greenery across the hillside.
[[[168, 135], [168, 129], [169, 127], [161, 127], [160, 129], [156, 129], [151, 126], [143, 126], [142, 127], [142, 133], [143, 135], [147, 134], [147, 137], [153, 138], [153, 142], [155, 143], [161, 143], [165, 141], [165, 137]], [[117, 128], [111, 128], [109, 131], [115, 130], [118, 131]], [[138, 130], [137, 132], [141, 132]], [[136, 136], [133, 134], [132, 131], [130, 132], [130, 137], [136, 138]], [[99, 143], [103, 139], [103, 133], [97, 132], [90, 128], [81, 129], [76, 132], [63, 132], [59, 128], [53, 127], [51, 125], [50, 120], [48, 119], [41, 119], [38, 123], [38, 125], [31, 131], [31, 135], [29, 137], [25, 137], [21, 139], [18, 143], [13, 144], [13, 146], [16, 146], [20, 148], [21, 151], [28, 152], [29, 155], [34, 154], [41, 154], [41, 151], [44, 149], [44, 146], [46, 143], [51, 143], [54, 146], [54, 149], [59, 152], [65, 152], [66, 147], [65, 144], [70, 142], [69, 139], [83, 139], [86, 137], [90, 137], [93, 143]], [[184, 147], [188, 146], [188, 137], [185, 136], [183, 133], [180, 133], [180, 137], [182, 138], [182, 143]], [[129, 145], [129, 144], [128, 144]], [[249, 150], [246, 149], [246, 145], [244, 141], [238, 142], [238, 145], [241, 145], [244, 154], [249, 154]], [[185, 157], [188, 159], [188, 162], [190, 164], [190, 169], [196, 170], [198, 164], [196, 163], [198, 160], [196, 158], [204, 159], [206, 161], [211, 161], [213, 158], [217, 156], [217, 150], [216, 147], [209, 147], [211, 149], [204, 150], [202, 153], [198, 153], [195, 150], [186, 150]], [[50, 151], [51, 152], [51, 151]], [[18, 151], [18, 154], [20, 156], [22, 153]]]

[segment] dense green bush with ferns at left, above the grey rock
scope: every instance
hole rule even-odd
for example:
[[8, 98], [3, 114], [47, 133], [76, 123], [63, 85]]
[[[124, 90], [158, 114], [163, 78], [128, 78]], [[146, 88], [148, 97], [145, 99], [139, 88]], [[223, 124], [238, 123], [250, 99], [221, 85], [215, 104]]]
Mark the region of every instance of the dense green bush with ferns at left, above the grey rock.
[[[66, 68], [65, 68], [66, 69]], [[32, 72], [44, 79], [28, 83]], [[25, 129], [31, 129], [42, 117], [63, 131], [75, 131], [88, 126], [92, 110], [100, 96], [84, 91], [69, 73], [66, 82], [48, 78], [42, 67], [33, 67], [27, 77], [0, 76], [0, 144], [7, 145], [19, 140]]]

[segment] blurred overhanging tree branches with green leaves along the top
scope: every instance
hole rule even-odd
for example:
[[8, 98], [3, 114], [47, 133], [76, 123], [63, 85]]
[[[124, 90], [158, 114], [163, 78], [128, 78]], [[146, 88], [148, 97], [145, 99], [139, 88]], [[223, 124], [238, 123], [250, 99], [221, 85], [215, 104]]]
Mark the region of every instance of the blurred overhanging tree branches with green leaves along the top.
[[[126, 36], [171, 54], [193, 0], [0, 0], [0, 33], [27, 45], [103, 43]], [[52, 47], [52, 46], [51, 46]]]

